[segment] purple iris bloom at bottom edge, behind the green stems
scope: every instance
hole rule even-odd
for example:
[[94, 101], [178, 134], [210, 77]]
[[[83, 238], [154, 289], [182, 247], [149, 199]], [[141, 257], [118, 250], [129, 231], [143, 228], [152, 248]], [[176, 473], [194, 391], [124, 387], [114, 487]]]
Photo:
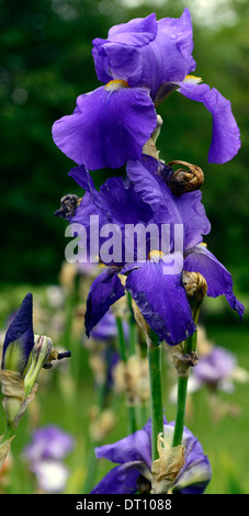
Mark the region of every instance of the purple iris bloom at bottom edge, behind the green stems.
[[[171, 446], [174, 423], [165, 420], [166, 441]], [[180, 470], [172, 492], [179, 494], [202, 494], [206, 489], [212, 471], [208, 458], [196, 437], [184, 427], [182, 445], [185, 447], [185, 463]], [[92, 490], [92, 494], [132, 494], [137, 492], [142, 479], [151, 482], [151, 423], [142, 430], [121, 439], [113, 445], [95, 448], [98, 458], [117, 463]]]

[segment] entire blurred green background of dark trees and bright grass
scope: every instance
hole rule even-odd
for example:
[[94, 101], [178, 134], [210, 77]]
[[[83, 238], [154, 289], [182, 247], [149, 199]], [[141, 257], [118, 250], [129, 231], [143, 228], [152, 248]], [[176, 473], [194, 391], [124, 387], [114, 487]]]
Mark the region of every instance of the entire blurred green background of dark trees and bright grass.
[[[46, 287], [58, 283], [66, 225], [54, 217], [54, 212], [64, 194], [75, 192], [81, 195], [81, 191], [67, 175], [75, 164], [57, 149], [50, 130], [55, 120], [72, 112], [79, 94], [100, 86], [91, 56], [91, 41], [106, 37], [107, 30], [115, 23], [145, 16], [152, 11], [158, 19], [179, 16], [184, 7], [190, 8], [193, 19], [195, 75], [231, 101], [242, 147], [231, 162], [210, 165], [211, 115], [203, 105], [178, 93], [158, 109], [165, 122], [158, 147], [161, 158], [167, 161], [182, 159], [203, 168], [203, 202], [212, 223], [212, 232], [205, 240], [233, 273], [235, 293], [248, 307], [248, 2], [0, 0], [0, 323], [3, 330], [8, 316], [19, 306], [27, 290], [32, 290], [37, 301], [44, 300]], [[110, 171], [95, 171], [92, 176], [98, 186], [110, 176]], [[58, 343], [66, 345], [67, 304], [64, 309], [63, 334], [59, 334]], [[208, 336], [235, 351], [239, 364], [249, 370], [247, 311], [244, 323], [240, 323], [224, 300], [207, 300], [203, 321]], [[36, 333], [41, 322], [44, 333], [48, 334], [49, 312], [45, 318], [44, 312], [37, 315]], [[42, 385], [37, 396], [41, 413], [38, 418], [34, 417], [39, 425], [49, 422], [61, 425], [77, 439], [75, 453], [69, 459], [72, 476], [68, 492], [80, 492], [87, 474], [88, 410], [95, 402], [88, 352], [80, 345], [79, 332], [77, 335], [69, 341], [75, 355], [67, 381], [64, 379], [61, 382], [56, 371], [52, 385], [49, 382]], [[79, 403], [80, 395], [82, 403]], [[227, 402], [225, 394], [220, 396]], [[231, 402], [240, 407], [237, 416], [228, 414], [215, 422], [207, 411], [206, 392], [196, 393], [197, 417], [186, 420], [212, 461], [210, 493], [249, 492], [247, 384], [238, 385]], [[118, 424], [107, 436], [109, 442], [123, 437], [126, 412], [123, 400], [118, 403]], [[19, 437], [13, 442], [15, 469], [7, 490], [11, 493], [33, 492], [33, 480], [19, 457], [30, 439], [34, 426], [32, 417], [21, 422]], [[169, 420], [174, 418], [173, 406], [167, 407], [167, 417]], [[3, 422], [2, 417], [0, 433]], [[107, 468], [101, 463], [99, 479]]]

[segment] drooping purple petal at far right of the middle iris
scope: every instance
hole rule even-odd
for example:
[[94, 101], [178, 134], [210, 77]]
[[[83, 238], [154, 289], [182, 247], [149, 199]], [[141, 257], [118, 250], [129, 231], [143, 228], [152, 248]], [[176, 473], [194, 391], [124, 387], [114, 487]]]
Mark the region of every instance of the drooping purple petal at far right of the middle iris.
[[206, 280], [207, 295], [211, 298], [225, 295], [231, 309], [242, 317], [245, 307], [233, 292], [231, 274], [206, 247], [200, 245], [190, 249], [184, 258], [183, 269], [189, 272], [200, 272]]

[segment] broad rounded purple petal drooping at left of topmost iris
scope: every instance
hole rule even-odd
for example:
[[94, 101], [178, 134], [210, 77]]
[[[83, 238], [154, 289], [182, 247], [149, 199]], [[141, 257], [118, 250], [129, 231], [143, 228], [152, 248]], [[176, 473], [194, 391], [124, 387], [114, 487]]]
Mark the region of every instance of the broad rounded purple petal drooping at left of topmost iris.
[[54, 123], [53, 137], [78, 165], [118, 168], [140, 156], [156, 125], [149, 90], [117, 80], [78, 97], [73, 114]]

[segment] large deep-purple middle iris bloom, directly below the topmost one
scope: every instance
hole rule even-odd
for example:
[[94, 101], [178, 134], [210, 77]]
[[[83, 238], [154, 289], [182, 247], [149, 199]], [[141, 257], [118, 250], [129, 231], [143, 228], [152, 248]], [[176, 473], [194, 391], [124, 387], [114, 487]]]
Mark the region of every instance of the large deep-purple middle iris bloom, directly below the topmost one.
[[[202, 245], [203, 235], [210, 232], [202, 194], [200, 191], [174, 197], [160, 175], [155, 173], [155, 164], [149, 157], [129, 160], [128, 177], [110, 178], [101, 187], [94, 188], [92, 178], [83, 166], [71, 169], [69, 175], [86, 189], [80, 205], [71, 223], [90, 226], [90, 215], [98, 214], [100, 226], [114, 223], [121, 229], [126, 224], [142, 223], [145, 227], [168, 224], [183, 227], [183, 256], [174, 255], [176, 273], [165, 273], [171, 255], [162, 259], [133, 262], [123, 260], [109, 263], [93, 281], [84, 317], [87, 334], [99, 323], [110, 306], [125, 294], [132, 294], [150, 328], [169, 345], [177, 345], [195, 330], [186, 293], [182, 284], [182, 271], [200, 272], [207, 282], [207, 295], [225, 294], [228, 303], [241, 316], [244, 306], [233, 292], [233, 280], [225, 267]], [[156, 168], [157, 168], [156, 167]], [[162, 175], [163, 176], [163, 175]], [[125, 249], [126, 240], [123, 242]], [[129, 246], [129, 242], [128, 242]], [[154, 250], [154, 249], [152, 249]], [[151, 249], [150, 249], [151, 251]], [[158, 248], [155, 248], [158, 251]], [[125, 289], [120, 274], [126, 276]]]

